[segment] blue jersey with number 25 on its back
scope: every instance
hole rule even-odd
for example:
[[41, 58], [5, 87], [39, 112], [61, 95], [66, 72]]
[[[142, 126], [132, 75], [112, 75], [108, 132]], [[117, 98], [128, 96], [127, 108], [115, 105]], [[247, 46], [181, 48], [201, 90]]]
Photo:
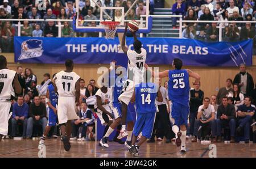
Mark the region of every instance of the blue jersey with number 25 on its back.
[[189, 102], [189, 75], [188, 71], [181, 70], [169, 70], [168, 72], [168, 96], [169, 99], [187, 105]]

